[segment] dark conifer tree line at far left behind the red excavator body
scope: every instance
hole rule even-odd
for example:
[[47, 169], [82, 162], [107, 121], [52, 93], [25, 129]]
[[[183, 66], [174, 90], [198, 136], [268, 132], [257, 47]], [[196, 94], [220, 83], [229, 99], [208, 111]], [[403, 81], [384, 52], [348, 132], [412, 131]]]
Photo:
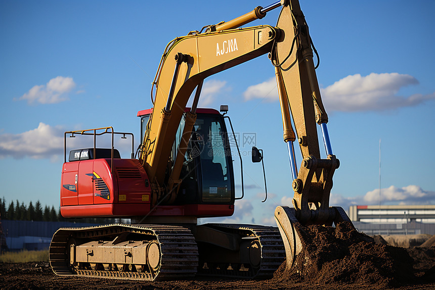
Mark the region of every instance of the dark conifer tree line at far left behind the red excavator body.
[[7, 205], [5, 197], [0, 198], [0, 217], [2, 220], [12, 221], [45, 221], [45, 222], [80, 222], [80, 223], [98, 223], [107, 224], [116, 222], [115, 219], [65, 219], [60, 214], [59, 210], [56, 210], [52, 205], [51, 208], [48, 205], [42, 207], [41, 203], [36, 201], [29, 202], [28, 205], [24, 202], [19, 202], [18, 199], [13, 200]]

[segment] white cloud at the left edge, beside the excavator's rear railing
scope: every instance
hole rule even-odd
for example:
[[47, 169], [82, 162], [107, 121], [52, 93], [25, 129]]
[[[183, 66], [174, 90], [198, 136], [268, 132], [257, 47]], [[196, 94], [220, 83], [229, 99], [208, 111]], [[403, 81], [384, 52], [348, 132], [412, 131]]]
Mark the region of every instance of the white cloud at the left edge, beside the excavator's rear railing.
[[0, 158], [56, 158], [63, 154], [63, 131], [40, 122], [36, 129], [0, 135]]

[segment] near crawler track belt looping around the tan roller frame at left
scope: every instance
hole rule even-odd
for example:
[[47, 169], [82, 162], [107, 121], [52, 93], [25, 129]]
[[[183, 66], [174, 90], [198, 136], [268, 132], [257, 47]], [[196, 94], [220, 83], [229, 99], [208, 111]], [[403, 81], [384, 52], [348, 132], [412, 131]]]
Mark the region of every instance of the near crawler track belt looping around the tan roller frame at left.
[[[144, 240], [155, 240], [160, 247], [157, 267], [144, 267], [137, 271], [134, 265], [125, 265], [122, 271], [92, 269], [88, 264], [70, 264], [71, 240], [113, 239], [121, 234], [135, 234]], [[89, 228], [61, 228], [50, 244], [50, 265], [57, 275], [79, 275], [115, 279], [154, 280], [193, 277], [197, 271], [198, 249], [190, 230], [176, 226], [161, 225], [107, 225]], [[96, 267], [97, 268], [97, 267]], [[113, 270], [112, 270], [113, 269]]]

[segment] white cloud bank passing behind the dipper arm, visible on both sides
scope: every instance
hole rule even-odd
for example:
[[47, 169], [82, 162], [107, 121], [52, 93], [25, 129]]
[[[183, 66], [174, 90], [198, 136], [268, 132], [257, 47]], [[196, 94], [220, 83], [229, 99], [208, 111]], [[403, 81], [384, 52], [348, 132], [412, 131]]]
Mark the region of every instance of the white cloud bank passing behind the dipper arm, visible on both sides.
[[[418, 80], [408, 74], [371, 73], [348, 75], [321, 89], [327, 111], [378, 111], [414, 106], [435, 99], [435, 92], [428, 95], [398, 96], [400, 89], [417, 85]], [[278, 101], [275, 78], [250, 86], [243, 93], [245, 101], [255, 98]]]

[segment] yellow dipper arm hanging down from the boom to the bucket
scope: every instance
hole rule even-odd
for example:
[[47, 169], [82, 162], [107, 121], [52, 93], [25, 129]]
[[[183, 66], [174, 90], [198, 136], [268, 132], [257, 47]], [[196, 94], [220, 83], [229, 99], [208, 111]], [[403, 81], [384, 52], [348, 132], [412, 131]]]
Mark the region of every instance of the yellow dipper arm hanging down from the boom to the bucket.
[[[272, 53], [280, 100], [288, 98], [288, 103], [281, 101], [281, 107], [290, 107], [303, 158], [299, 172], [293, 175], [293, 205], [302, 224], [332, 223], [334, 213], [329, 209], [329, 194], [339, 162], [331, 149], [329, 152], [327, 149], [327, 159], [320, 157], [316, 122], [326, 126], [328, 116], [320, 96], [308, 25], [297, 0], [290, 0], [283, 7], [277, 26], [285, 31], [281, 33], [285, 37], [278, 40]], [[284, 111], [284, 130], [291, 132], [291, 126], [285, 126], [288, 117]], [[290, 140], [286, 135], [285, 142]], [[326, 142], [325, 145], [330, 147]], [[290, 151], [289, 146], [291, 162], [293, 152]], [[296, 173], [295, 167], [292, 170]]]

